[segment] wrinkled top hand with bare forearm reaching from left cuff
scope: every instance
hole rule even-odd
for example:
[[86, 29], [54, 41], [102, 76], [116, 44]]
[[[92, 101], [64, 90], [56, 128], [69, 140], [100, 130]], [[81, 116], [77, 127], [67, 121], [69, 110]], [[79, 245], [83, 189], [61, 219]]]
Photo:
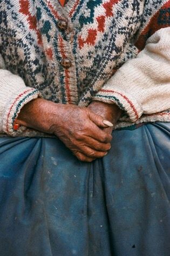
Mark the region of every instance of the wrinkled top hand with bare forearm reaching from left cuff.
[[111, 148], [112, 136], [102, 128], [104, 118], [89, 108], [35, 99], [26, 104], [17, 123], [55, 134], [80, 160], [91, 162]]

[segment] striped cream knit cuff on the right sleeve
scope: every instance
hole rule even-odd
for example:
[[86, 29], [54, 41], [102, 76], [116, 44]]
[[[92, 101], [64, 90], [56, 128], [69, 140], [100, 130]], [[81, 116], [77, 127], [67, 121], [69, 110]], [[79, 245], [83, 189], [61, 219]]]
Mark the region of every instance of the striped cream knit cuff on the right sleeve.
[[137, 121], [142, 115], [141, 106], [129, 93], [120, 90], [118, 87], [110, 89], [108, 87], [100, 89], [93, 97], [93, 100], [103, 101], [108, 104], [116, 104], [125, 111], [132, 122]]

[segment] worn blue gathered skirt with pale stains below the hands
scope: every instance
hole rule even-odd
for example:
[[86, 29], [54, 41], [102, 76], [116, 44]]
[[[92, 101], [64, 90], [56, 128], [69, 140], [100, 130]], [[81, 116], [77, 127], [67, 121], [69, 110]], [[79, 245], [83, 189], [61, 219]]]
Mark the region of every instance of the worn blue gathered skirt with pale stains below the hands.
[[0, 138], [0, 255], [169, 256], [169, 138], [114, 131], [92, 163], [57, 138]]

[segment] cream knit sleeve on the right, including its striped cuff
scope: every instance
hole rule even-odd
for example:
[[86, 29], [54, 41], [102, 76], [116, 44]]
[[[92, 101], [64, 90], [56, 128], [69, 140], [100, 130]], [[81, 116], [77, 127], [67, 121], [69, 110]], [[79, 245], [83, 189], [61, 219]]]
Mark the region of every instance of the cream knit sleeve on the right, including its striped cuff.
[[144, 50], [127, 61], [93, 100], [115, 103], [131, 121], [170, 108], [170, 27], [155, 32]]

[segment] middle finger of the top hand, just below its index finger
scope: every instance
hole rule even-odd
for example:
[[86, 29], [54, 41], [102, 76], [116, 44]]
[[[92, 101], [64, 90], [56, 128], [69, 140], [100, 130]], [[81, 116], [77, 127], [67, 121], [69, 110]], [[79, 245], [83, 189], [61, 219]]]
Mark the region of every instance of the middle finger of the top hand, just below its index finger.
[[89, 146], [92, 149], [96, 149], [99, 151], [108, 151], [111, 149], [110, 143], [102, 143], [102, 142], [99, 142], [98, 140], [93, 139], [91, 137], [86, 137], [85, 145]]

